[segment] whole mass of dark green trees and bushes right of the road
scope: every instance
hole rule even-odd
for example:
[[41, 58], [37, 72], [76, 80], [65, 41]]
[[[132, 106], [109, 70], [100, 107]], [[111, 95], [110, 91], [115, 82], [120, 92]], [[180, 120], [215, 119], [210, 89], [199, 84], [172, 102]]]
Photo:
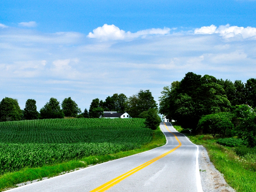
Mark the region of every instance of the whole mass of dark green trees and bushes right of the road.
[[161, 93], [160, 113], [185, 130], [208, 132], [214, 137], [237, 135], [249, 146], [256, 145], [256, 116], [252, 109], [256, 107], [256, 79], [233, 83], [189, 72]]

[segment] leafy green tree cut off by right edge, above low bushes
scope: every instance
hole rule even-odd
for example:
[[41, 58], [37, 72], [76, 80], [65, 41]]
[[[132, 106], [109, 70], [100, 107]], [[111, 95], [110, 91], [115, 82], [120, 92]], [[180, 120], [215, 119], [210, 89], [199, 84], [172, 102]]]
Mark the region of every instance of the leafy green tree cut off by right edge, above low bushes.
[[242, 138], [249, 147], [256, 146], [256, 114], [247, 105], [237, 105], [233, 111], [233, 123], [238, 137]]

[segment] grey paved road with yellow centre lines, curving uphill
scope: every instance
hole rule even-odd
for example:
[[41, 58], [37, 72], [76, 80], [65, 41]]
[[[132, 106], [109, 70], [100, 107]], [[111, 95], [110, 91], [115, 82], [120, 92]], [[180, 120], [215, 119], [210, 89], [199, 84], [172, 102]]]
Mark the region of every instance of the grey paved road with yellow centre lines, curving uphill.
[[[167, 144], [162, 147], [9, 191], [80, 192], [105, 191], [108, 189], [108, 191], [114, 192], [202, 192], [197, 162], [197, 146], [177, 132], [170, 123], [165, 124], [160, 124], [161, 130], [167, 138]], [[97, 190], [94, 190], [95, 188]]]

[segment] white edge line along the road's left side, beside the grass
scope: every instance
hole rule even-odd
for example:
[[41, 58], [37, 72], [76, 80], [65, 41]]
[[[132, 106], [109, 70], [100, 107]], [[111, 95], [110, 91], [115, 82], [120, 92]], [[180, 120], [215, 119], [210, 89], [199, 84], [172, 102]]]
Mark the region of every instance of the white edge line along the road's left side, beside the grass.
[[[159, 127], [160, 127], [160, 124], [159, 124]], [[161, 127], [160, 127], [160, 130], [162, 131]], [[163, 132], [163, 131], [162, 131], [162, 132]], [[163, 133], [164, 133], [164, 132], [163, 132]], [[165, 145], [167, 145], [168, 140], [167, 140], [165, 134], [164, 134], [164, 136], [165, 136], [165, 139], [166, 139]], [[160, 147], [164, 147], [165, 145], [160, 146]], [[159, 148], [159, 147], [156, 147], [156, 148]], [[156, 149], [156, 148], [150, 149], [150, 150], [148, 150], [148, 151], [154, 150], [154, 149]], [[144, 151], [144, 152], [141, 152], [141, 153], [145, 153], [145, 152], [148, 152], [148, 151]], [[136, 153], [136, 154], [133, 154], [133, 155], [130, 155], [130, 156], [138, 155], [138, 154], [141, 154], [141, 153]], [[109, 154], [108, 154], [108, 155], [109, 155]], [[126, 156], [126, 157], [130, 157], [130, 156]], [[114, 159], [114, 160], [110, 160], [110, 161], [116, 161], [116, 160], [123, 159], [123, 158], [126, 158], [126, 157], [121, 157], [121, 158]], [[83, 168], [83, 169], [79, 169], [79, 170], [72, 171], [72, 172], [69, 172], [69, 173], [65, 173], [65, 174], [62, 174], [62, 175], [53, 176], [53, 177], [51, 177], [51, 178], [49, 178], [49, 179], [44, 179], [44, 180], [41, 180], [41, 181], [36, 181], [36, 182], [34, 182], [34, 183], [29, 183], [29, 184], [27, 184], [27, 185], [22, 185], [22, 186], [20, 186], [20, 187], [12, 188], [12, 189], [9, 189], [9, 190], [6, 190], [6, 191], [13, 191], [13, 190], [15, 190], [15, 189], [20, 189], [20, 188], [23, 188], [23, 187], [26, 187], [26, 186], [29, 186], [29, 185], [33, 185], [33, 184], [39, 183], [39, 182], [43, 182], [43, 181], [46, 181], [46, 180], [48, 181], [48, 180], [54, 179], [54, 178], [56, 178], [56, 177], [61, 177], [61, 176], [65, 176], [65, 175], [68, 175], [68, 174], [73, 173], [73, 172], [78, 172], [78, 171], [82, 171], [82, 170], [85, 170], [85, 169], [89, 169], [89, 168], [91, 168], [91, 167], [94, 167], [94, 166], [97, 166], [97, 165], [101, 165], [101, 164], [104, 164], [104, 163], [108, 163], [108, 162], [110, 162], [110, 161], [106, 161], [106, 162], [103, 162], [103, 163], [99, 163], [99, 164], [96, 164], [96, 165], [92, 165], [92, 166], [89, 166], [89, 167], [85, 167], [85, 168]], [[76, 168], [76, 169], [77, 169], [77, 168]], [[28, 182], [28, 181], [25, 181], [25, 182]], [[23, 183], [25, 183], [25, 182], [23, 182]]]

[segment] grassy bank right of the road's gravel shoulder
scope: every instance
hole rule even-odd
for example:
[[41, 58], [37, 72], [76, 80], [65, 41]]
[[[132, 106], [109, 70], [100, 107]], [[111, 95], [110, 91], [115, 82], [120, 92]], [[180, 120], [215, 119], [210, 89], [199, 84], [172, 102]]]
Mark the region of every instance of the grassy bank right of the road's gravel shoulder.
[[[174, 125], [174, 128], [182, 132], [182, 127]], [[196, 145], [206, 148], [215, 168], [223, 173], [227, 183], [237, 192], [256, 192], [255, 149], [221, 146], [212, 135], [185, 135]]]

